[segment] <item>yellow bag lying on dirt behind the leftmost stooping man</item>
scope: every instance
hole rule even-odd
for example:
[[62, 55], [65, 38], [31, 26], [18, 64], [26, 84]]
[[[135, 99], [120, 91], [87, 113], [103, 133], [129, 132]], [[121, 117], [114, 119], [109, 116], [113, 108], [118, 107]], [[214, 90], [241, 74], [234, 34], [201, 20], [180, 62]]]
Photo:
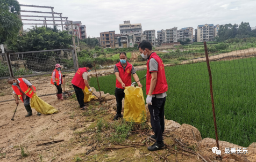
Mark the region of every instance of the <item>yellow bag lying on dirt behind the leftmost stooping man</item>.
[[59, 111], [55, 109], [53, 106], [47, 104], [46, 102], [42, 101], [36, 94], [34, 94], [31, 98], [30, 106], [35, 109], [35, 111], [40, 112], [42, 114], [53, 114], [58, 113]]

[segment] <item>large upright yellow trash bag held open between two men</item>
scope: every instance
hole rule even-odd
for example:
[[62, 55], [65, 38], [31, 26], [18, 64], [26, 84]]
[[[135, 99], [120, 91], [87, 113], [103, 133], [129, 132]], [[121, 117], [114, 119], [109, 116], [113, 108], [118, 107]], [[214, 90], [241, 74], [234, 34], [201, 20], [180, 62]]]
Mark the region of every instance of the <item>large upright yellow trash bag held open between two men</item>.
[[142, 118], [146, 120], [145, 101], [143, 91], [140, 87], [125, 87], [124, 90], [124, 119], [141, 123]]

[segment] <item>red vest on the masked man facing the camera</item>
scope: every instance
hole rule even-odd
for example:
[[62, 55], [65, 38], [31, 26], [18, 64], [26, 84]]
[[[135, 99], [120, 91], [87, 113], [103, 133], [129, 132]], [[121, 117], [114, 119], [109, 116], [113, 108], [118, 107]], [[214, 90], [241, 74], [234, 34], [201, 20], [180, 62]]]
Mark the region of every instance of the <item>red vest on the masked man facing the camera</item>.
[[[117, 63], [116, 66], [117, 66], [118, 71], [119, 71], [119, 76], [120, 76], [121, 80], [124, 82], [125, 87], [131, 86], [131, 84], [132, 84], [132, 75], [131, 75], [132, 74], [131, 73], [132, 72], [132, 64], [127, 62], [127, 65], [125, 67], [125, 71], [124, 71], [124, 68], [123, 68], [123, 66], [120, 62]], [[117, 79], [116, 79], [116, 87], [123, 89], [122, 84], [119, 83]]]

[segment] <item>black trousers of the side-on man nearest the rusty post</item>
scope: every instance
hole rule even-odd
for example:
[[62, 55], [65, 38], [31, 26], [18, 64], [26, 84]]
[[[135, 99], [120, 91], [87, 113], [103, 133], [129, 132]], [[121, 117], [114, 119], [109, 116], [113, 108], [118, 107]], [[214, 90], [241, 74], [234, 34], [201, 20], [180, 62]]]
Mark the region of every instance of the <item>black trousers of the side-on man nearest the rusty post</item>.
[[155, 133], [157, 143], [162, 143], [162, 133], [165, 131], [165, 98], [152, 98], [152, 105], [148, 105], [150, 111], [150, 123]]

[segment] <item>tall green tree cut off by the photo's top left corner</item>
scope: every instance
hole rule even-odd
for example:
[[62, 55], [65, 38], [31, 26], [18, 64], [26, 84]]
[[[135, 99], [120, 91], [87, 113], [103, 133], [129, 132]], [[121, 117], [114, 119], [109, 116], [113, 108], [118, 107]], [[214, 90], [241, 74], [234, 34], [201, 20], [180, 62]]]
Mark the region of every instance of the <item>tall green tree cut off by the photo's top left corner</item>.
[[19, 11], [18, 1], [0, 1], [0, 44], [18, 35], [22, 27], [22, 21], [18, 17]]

